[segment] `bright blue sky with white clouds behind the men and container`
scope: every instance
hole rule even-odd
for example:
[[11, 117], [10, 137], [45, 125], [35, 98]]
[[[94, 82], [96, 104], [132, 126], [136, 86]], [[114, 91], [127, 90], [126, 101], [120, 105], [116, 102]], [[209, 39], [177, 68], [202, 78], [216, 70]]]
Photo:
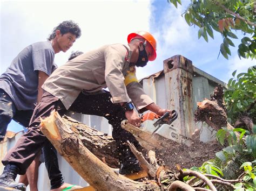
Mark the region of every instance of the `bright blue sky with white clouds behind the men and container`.
[[[44, 41], [53, 27], [63, 20], [75, 20], [82, 29], [82, 36], [66, 53], [55, 56], [57, 65], [63, 65], [71, 51], [90, 51], [104, 44], [126, 43], [127, 34], [145, 30], [157, 39], [155, 61], [137, 70], [142, 78], [163, 69], [163, 60], [181, 54], [192, 60], [193, 65], [224, 82], [232, 72], [245, 72], [255, 61], [240, 60], [237, 48], [231, 48], [229, 60], [219, 56], [221, 36], [214, 33], [214, 40], [206, 43], [198, 39], [198, 27], [190, 27], [181, 17], [190, 1], [183, 1], [176, 9], [167, 1], [0, 1], [0, 73], [5, 72], [12, 59], [26, 46]], [[234, 32], [235, 33], [235, 32]], [[236, 33], [241, 37], [241, 33]], [[235, 40], [236, 45], [239, 40]], [[17, 131], [11, 122], [9, 130]]]

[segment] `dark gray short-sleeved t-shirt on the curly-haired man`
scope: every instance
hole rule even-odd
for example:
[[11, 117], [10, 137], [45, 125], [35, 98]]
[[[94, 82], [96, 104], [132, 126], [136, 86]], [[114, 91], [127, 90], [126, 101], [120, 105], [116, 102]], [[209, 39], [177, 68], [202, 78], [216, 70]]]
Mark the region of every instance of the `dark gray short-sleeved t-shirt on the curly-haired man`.
[[14, 101], [18, 110], [35, 107], [38, 94], [38, 71], [50, 76], [57, 68], [55, 52], [49, 41], [39, 42], [24, 48], [0, 76], [0, 89]]

